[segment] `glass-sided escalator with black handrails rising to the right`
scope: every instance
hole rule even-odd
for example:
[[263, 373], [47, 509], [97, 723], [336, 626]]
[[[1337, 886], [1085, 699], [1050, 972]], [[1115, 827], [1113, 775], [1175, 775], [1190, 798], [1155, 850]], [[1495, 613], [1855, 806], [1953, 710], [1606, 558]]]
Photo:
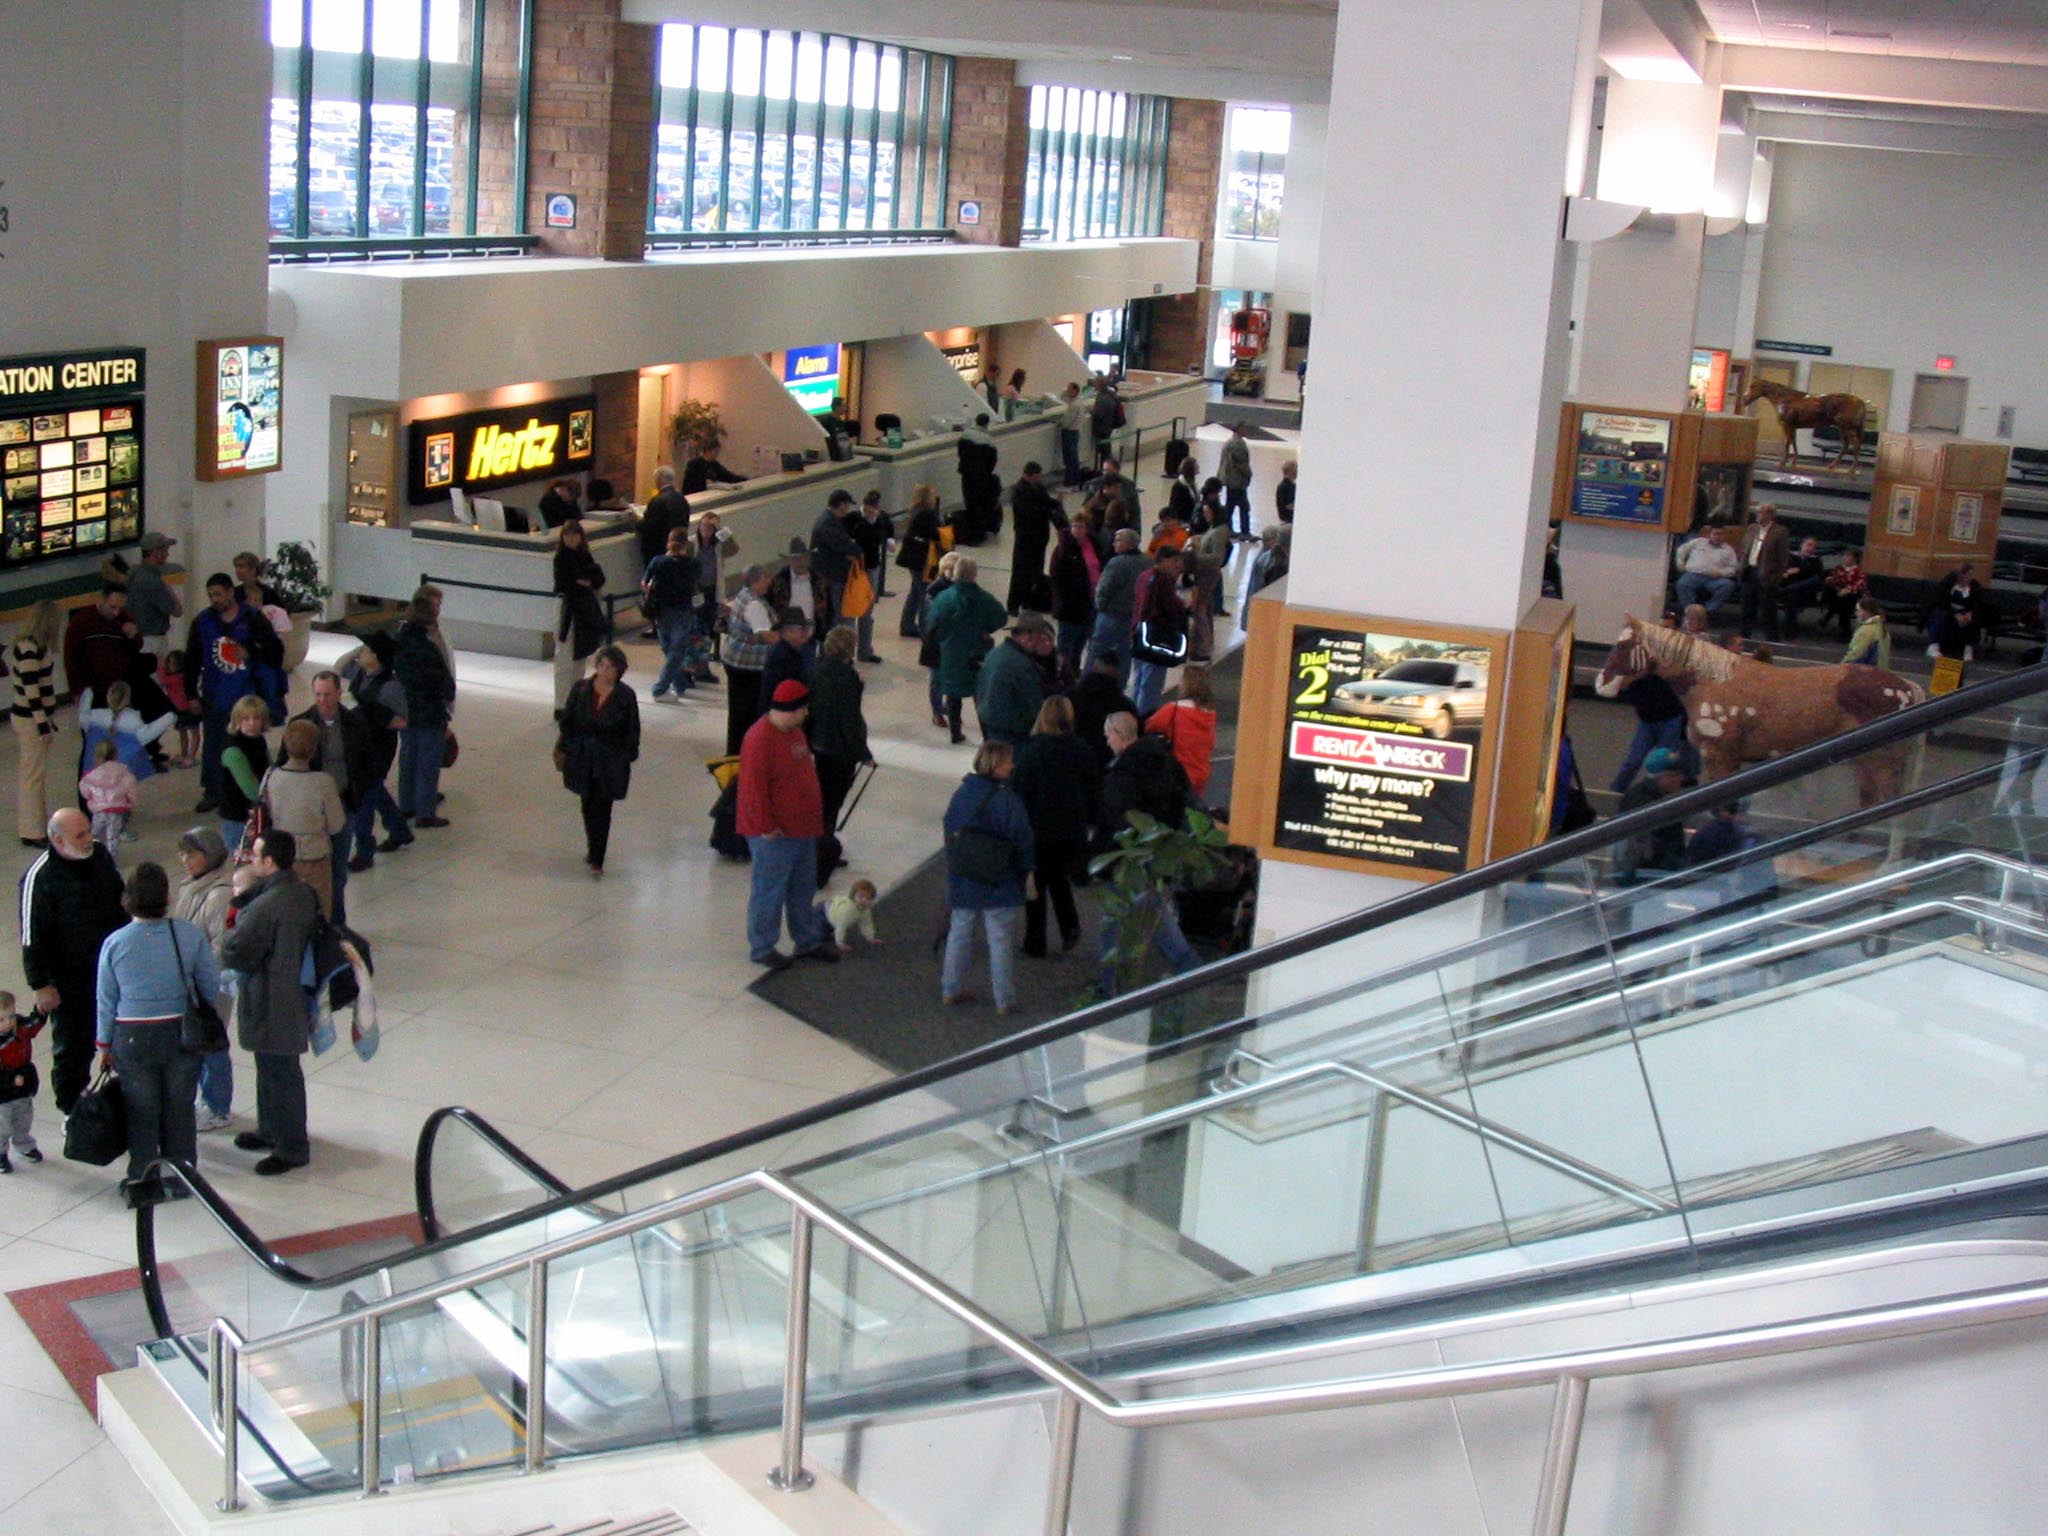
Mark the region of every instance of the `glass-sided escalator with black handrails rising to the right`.
[[[758, 1167], [1122, 1380], [2032, 1217], [2044, 698], [2034, 668], [1929, 700], [580, 1190], [442, 1110], [416, 1159], [428, 1241], [336, 1272], [170, 1169], [197, 1198], [137, 1214], [150, 1358], [207, 1423], [207, 1329], [248, 1339], [242, 1473], [295, 1499], [774, 1427], [788, 1206], [739, 1194], [614, 1231]], [[1874, 752], [1913, 776], [1858, 807]], [[1624, 842], [1737, 801], [1751, 846], [1614, 874]], [[813, 1419], [1026, 1384], [827, 1233], [809, 1274]], [[375, 1380], [360, 1327], [305, 1335], [426, 1288], [383, 1315]]]

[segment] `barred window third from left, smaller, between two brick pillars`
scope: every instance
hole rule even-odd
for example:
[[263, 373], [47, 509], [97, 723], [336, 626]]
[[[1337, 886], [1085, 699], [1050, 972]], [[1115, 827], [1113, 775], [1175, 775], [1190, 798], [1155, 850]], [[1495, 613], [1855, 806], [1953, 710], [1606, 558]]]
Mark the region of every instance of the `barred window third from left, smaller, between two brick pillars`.
[[1165, 96], [1032, 86], [1024, 240], [1159, 233], [1171, 117]]

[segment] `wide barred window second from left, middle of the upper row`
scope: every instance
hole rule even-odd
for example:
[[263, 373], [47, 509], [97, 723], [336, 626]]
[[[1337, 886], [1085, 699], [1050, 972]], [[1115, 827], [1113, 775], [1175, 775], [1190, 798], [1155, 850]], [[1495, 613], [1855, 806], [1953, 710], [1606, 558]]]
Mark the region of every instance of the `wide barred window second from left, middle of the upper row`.
[[946, 223], [944, 53], [668, 25], [657, 80], [655, 236]]

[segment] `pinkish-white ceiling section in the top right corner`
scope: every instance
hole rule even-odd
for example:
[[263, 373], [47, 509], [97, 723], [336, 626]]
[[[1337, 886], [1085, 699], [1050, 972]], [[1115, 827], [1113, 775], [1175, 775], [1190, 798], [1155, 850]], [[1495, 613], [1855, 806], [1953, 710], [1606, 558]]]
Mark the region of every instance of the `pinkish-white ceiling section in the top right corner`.
[[2044, 0], [1694, 0], [1722, 43], [2048, 63]]

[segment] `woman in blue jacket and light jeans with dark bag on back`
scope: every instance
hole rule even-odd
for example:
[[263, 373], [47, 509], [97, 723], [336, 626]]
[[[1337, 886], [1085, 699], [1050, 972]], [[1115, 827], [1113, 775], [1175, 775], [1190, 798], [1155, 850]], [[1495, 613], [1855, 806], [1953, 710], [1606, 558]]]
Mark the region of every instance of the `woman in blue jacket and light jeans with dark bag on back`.
[[975, 918], [989, 934], [989, 979], [995, 1012], [1018, 1010], [1016, 956], [1024, 928], [1024, 881], [1036, 848], [1024, 801], [1010, 788], [1016, 754], [1008, 741], [983, 741], [975, 772], [952, 793], [946, 807], [946, 961], [938, 993], [946, 1004], [971, 1004], [967, 956], [975, 942]]

